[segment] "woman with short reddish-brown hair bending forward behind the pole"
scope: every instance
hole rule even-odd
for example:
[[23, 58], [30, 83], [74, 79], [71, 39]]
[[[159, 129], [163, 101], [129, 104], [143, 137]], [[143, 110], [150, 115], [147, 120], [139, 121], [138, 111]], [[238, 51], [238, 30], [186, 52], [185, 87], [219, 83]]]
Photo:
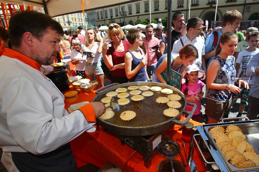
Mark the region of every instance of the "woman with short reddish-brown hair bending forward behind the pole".
[[[198, 58], [198, 51], [194, 45], [185, 45], [179, 51], [179, 54], [171, 53], [171, 69], [179, 73], [185, 71], [185, 67], [192, 65], [192, 63]], [[164, 54], [159, 58], [157, 65], [155, 66], [154, 72], [152, 74], [152, 82], [159, 82], [167, 84], [162, 73], [167, 68], [167, 54]]]

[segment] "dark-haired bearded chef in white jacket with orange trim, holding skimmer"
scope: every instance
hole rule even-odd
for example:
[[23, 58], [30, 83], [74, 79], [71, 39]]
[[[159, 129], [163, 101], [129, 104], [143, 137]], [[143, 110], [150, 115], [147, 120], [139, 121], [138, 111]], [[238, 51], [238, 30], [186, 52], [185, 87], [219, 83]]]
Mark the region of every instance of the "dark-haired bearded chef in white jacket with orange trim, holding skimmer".
[[1, 162], [8, 171], [77, 171], [69, 141], [94, 132], [105, 106], [92, 102], [69, 114], [64, 95], [43, 74], [64, 34], [51, 16], [19, 11], [9, 31], [12, 49], [0, 58]]

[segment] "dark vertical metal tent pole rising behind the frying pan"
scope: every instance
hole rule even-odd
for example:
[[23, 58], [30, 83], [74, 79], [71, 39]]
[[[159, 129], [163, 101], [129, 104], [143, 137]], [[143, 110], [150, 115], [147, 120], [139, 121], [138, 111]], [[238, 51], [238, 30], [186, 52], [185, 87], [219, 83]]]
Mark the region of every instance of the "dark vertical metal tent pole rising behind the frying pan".
[[167, 85], [170, 85], [171, 79], [171, 37], [172, 37], [172, 1], [167, 0]]

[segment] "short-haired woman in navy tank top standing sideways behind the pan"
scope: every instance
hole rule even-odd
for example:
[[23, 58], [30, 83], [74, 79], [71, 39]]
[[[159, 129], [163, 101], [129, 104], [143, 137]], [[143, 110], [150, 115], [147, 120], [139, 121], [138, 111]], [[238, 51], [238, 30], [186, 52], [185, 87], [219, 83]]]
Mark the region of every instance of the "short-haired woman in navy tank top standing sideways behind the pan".
[[131, 46], [125, 54], [125, 71], [129, 82], [147, 81], [145, 66], [147, 65], [146, 58], [142, 55], [139, 48], [143, 44], [143, 37], [137, 28], [131, 28], [127, 35], [127, 40]]

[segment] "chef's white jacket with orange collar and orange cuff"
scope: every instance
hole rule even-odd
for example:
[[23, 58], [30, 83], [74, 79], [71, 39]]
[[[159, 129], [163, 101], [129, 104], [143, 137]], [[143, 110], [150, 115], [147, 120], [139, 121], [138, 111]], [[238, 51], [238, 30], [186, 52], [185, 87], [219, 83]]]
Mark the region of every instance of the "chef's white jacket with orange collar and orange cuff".
[[1, 161], [8, 171], [15, 171], [10, 152], [44, 154], [96, 130], [92, 105], [69, 114], [64, 95], [38, 62], [5, 48], [0, 64]]

